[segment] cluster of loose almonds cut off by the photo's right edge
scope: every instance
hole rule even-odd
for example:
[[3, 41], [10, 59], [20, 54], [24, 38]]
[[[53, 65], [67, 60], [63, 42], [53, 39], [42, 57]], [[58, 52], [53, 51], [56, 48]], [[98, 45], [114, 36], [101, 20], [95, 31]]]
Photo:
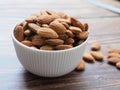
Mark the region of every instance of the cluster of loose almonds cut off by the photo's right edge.
[[107, 58], [108, 63], [116, 65], [120, 69], [120, 49], [111, 49]]

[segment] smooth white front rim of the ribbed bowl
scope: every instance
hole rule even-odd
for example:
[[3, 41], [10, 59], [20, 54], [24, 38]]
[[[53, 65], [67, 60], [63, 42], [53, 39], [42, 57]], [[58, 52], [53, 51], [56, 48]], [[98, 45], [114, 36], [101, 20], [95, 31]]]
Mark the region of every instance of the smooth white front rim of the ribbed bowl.
[[14, 36], [14, 29], [12, 30], [11, 37], [12, 37], [12, 39], [13, 39], [17, 44], [19, 44], [20, 46], [22, 46], [22, 47], [24, 47], [24, 48], [27, 48], [27, 49], [30, 49], [30, 50], [33, 50], [33, 51], [37, 51], [37, 52], [52, 52], [52, 53], [66, 52], [66, 51], [75, 50], [75, 49], [83, 46], [85, 43], [87, 43], [87, 41], [88, 41], [88, 39], [89, 39], [89, 35], [88, 35], [87, 39], [86, 39], [82, 44], [80, 44], [80, 45], [78, 45], [78, 46], [75, 46], [75, 47], [73, 47], [73, 48], [65, 49], [65, 50], [40, 50], [40, 49], [30, 48], [30, 47], [22, 44], [21, 42], [19, 42], [19, 41], [15, 38], [15, 36]]

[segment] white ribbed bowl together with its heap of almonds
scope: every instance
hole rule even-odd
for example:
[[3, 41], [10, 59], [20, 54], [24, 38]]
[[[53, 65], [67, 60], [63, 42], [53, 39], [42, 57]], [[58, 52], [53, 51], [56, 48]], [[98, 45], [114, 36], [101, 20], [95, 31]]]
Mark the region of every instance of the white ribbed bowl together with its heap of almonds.
[[17, 24], [12, 39], [17, 57], [26, 70], [39, 76], [58, 77], [76, 68], [88, 35], [87, 23], [48, 10]]

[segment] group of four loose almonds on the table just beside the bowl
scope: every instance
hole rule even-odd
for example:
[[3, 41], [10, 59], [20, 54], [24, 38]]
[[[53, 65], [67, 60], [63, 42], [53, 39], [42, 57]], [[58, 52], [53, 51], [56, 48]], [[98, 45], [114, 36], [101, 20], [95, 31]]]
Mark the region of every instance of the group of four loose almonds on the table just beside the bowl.
[[103, 61], [104, 56], [100, 52], [100, 48], [101, 48], [100, 43], [98, 43], [98, 42], [93, 43], [91, 46], [90, 54], [85, 53], [83, 55], [83, 60], [80, 61], [80, 63], [78, 64], [76, 69], [79, 71], [84, 70], [85, 69], [85, 62], [84, 61], [89, 62], [89, 63], [94, 63], [94, 60]]

